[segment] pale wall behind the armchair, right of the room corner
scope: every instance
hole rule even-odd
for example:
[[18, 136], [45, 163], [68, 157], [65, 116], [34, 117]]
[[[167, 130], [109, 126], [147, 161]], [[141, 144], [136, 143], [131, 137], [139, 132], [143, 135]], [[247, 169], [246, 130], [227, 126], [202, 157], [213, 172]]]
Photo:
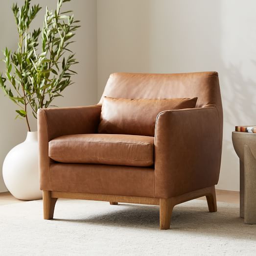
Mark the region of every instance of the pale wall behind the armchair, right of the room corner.
[[224, 109], [217, 188], [239, 190], [231, 133], [256, 124], [255, 0], [98, 0], [98, 98], [110, 73], [219, 72]]

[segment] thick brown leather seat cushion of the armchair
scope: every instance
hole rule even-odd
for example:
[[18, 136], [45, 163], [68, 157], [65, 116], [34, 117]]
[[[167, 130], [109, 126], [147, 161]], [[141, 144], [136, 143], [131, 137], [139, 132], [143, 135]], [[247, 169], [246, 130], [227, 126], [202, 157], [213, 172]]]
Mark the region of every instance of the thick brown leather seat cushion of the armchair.
[[49, 157], [60, 163], [151, 166], [154, 137], [123, 134], [65, 135], [49, 141]]

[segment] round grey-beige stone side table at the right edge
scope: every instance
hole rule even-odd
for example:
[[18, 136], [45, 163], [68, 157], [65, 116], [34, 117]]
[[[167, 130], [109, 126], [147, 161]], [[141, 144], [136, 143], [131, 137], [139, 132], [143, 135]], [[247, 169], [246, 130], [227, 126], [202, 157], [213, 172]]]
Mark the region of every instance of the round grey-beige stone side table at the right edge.
[[232, 132], [240, 160], [240, 217], [256, 224], [256, 133]]

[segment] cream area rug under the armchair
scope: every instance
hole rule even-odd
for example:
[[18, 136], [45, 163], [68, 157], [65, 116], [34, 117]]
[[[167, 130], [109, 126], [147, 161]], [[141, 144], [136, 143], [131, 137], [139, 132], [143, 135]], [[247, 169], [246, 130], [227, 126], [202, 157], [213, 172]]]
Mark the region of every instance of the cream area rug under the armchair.
[[159, 230], [159, 207], [59, 200], [43, 220], [42, 201], [0, 207], [0, 255], [256, 255], [256, 225], [237, 204], [206, 201], [174, 208], [171, 229]]

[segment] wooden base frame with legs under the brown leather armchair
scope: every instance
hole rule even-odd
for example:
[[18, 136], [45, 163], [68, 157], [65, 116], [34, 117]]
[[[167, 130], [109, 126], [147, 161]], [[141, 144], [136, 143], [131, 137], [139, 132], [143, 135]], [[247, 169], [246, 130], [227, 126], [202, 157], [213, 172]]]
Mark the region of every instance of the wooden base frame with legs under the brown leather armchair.
[[186, 201], [206, 196], [210, 212], [217, 211], [215, 187], [209, 186], [198, 189], [180, 196], [171, 198], [151, 198], [136, 196], [118, 196], [102, 194], [86, 194], [73, 192], [43, 191], [44, 219], [52, 219], [55, 203], [58, 198], [84, 199], [94, 201], [107, 201], [111, 205], [120, 203], [159, 205], [160, 206], [160, 229], [168, 230], [171, 223], [173, 207]]

